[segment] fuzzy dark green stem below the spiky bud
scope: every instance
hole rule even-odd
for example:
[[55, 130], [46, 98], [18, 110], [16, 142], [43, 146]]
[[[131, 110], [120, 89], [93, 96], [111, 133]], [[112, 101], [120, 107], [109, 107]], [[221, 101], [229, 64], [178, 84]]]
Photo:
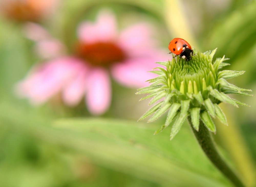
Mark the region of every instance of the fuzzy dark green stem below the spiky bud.
[[211, 162], [237, 187], [244, 187], [242, 181], [238, 178], [238, 176], [234, 173], [234, 171], [228, 166], [228, 164], [224, 161], [224, 159], [220, 156], [214, 140], [204, 125], [204, 123], [200, 120], [199, 131], [196, 131], [192, 125], [190, 116], [188, 117], [188, 121], [190, 124], [193, 133], [196, 136], [196, 139], [207, 155], [207, 157], [211, 160]]

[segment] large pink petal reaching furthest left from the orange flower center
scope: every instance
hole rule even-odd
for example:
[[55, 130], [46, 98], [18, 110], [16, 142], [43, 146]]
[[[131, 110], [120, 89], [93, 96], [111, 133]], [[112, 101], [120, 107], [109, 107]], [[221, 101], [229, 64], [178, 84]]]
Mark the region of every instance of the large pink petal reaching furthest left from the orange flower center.
[[18, 94], [33, 104], [46, 102], [55, 95], [81, 69], [81, 61], [65, 57], [36, 66], [17, 86]]

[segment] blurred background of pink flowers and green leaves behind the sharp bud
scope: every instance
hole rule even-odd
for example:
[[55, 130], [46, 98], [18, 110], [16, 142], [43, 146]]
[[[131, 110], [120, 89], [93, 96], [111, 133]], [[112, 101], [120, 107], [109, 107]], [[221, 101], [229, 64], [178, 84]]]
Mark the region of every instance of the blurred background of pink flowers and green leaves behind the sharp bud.
[[[169, 141], [170, 127], [153, 135], [165, 116], [137, 122], [149, 101], [135, 92], [179, 37], [218, 48], [246, 71], [230, 82], [255, 95], [255, 1], [0, 2], [0, 186], [232, 186], [187, 123]], [[229, 126], [216, 122], [214, 138], [256, 186], [256, 100], [231, 97], [251, 107], [222, 104]]]

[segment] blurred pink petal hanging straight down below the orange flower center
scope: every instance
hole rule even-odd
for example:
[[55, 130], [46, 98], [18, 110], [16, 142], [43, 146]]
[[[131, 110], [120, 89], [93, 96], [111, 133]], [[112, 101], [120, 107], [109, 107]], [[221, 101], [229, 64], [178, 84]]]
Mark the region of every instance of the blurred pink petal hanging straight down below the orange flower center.
[[97, 68], [91, 71], [86, 102], [92, 114], [100, 115], [109, 108], [111, 102], [110, 85], [109, 75], [105, 69]]

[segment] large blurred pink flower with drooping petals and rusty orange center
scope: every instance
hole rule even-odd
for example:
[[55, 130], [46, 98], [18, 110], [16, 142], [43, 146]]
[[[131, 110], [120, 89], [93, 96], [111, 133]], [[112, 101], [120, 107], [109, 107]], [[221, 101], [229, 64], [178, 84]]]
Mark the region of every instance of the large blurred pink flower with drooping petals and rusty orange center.
[[[32, 103], [46, 102], [61, 92], [63, 102], [76, 106], [85, 100], [92, 114], [102, 114], [110, 106], [110, 75], [127, 87], [146, 86], [154, 62], [167, 60], [166, 51], [156, 48], [147, 24], [136, 24], [118, 34], [115, 16], [108, 11], [97, 21], [78, 28], [78, 42], [71, 56], [57, 57], [32, 68], [18, 84], [20, 96]], [[47, 50], [47, 49], [45, 49]]]

